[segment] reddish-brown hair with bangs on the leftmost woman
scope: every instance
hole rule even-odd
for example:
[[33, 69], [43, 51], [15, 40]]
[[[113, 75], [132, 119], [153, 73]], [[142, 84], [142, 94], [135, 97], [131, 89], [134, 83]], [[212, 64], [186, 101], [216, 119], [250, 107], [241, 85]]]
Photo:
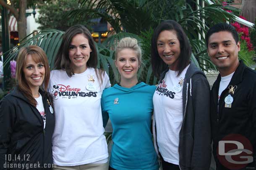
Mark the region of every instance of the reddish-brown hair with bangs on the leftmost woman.
[[23, 71], [26, 64], [27, 56], [29, 54], [31, 55], [31, 57], [36, 63], [44, 64], [45, 76], [44, 76], [44, 81], [42, 83], [44, 86], [44, 91], [47, 91], [47, 86], [49, 84], [50, 67], [49, 67], [49, 63], [48, 63], [45, 52], [39, 46], [24, 47], [24, 48], [21, 48], [21, 50], [18, 53], [17, 64], [16, 64], [16, 81], [18, 83], [18, 90], [21, 91], [21, 93], [29, 100], [29, 102], [34, 107], [36, 107], [37, 101], [36, 99], [34, 99], [32, 95], [32, 91], [29, 87], [28, 82], [25, 79], [24, 71]]

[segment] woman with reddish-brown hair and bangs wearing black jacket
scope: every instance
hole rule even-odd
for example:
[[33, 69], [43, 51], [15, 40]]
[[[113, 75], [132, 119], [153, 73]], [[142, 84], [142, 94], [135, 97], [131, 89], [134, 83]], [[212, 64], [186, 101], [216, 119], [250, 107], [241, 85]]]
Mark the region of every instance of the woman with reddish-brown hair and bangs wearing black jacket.
[[[38, 46], [21, 48], [18, 86], [0, 101], [0, 169], [52, 169], [54, 114], [50, 68]], [[42, 86], [44, 88], [42, 88]]]

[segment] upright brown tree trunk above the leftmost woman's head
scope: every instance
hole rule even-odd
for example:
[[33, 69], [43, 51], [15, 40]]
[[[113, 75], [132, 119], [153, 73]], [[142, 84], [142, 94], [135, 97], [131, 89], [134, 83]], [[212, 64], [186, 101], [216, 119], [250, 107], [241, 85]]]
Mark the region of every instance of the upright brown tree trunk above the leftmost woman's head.
[[19, 41], [21, 41], [23, 38], [26, 37], [26, 8], [27, 8], [27, 1], [26, 0], [20, 0], [19, 1], [19, 10], [18, 10], [18, 37]]

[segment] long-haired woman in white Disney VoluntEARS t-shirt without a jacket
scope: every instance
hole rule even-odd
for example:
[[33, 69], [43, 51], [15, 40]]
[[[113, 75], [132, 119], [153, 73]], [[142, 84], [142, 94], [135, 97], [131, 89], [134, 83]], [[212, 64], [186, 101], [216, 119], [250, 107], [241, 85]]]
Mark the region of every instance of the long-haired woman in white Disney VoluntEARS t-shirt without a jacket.
[[48, 90], [56, 115], [52, 138], [55, 170], [107, 170], [100, 101], [110, 81], [106, 72], [96, 69], [97, 51], [86, 27], [68, 28], [54, 66]]

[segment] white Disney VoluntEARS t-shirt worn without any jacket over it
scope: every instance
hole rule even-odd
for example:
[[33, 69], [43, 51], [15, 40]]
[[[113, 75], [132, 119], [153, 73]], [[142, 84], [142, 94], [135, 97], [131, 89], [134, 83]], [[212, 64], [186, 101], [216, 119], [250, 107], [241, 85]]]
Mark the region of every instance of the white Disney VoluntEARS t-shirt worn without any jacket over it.
[[[89, 81], [91, 76], [94, 82]], [[48, 91], [53, 96], [55, 112], [52, 137], [55, 164], [76, 166], [104, 159], [107, 162], [100, 101], [102, 91], [110, 86], [106, 73], [99, 85], [93, 68], [72, 77], [63, 70], [51, 71]]]

